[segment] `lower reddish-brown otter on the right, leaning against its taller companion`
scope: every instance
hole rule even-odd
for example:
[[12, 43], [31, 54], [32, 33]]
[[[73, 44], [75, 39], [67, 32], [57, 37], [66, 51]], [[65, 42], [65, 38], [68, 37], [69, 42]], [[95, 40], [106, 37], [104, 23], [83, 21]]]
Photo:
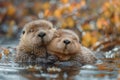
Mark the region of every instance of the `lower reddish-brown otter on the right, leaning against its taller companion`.
[[78, 35], [71, 30], [57, 30], [47, 50], [51, 55], [48, 60], [55, 61], [57, 65], [82, 66], [94, 64], [97, 60], [91, 50], [80, 44]]

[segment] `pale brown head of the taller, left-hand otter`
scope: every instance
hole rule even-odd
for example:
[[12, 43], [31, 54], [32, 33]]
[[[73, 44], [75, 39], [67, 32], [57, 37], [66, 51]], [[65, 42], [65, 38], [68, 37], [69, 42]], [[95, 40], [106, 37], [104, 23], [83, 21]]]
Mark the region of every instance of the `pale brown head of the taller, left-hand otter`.
[[54, 35], [52, 23], [45, 20], [32, 21], [25, 25], [21, 41], [27, 45], [41, 46], [48, 44]]

